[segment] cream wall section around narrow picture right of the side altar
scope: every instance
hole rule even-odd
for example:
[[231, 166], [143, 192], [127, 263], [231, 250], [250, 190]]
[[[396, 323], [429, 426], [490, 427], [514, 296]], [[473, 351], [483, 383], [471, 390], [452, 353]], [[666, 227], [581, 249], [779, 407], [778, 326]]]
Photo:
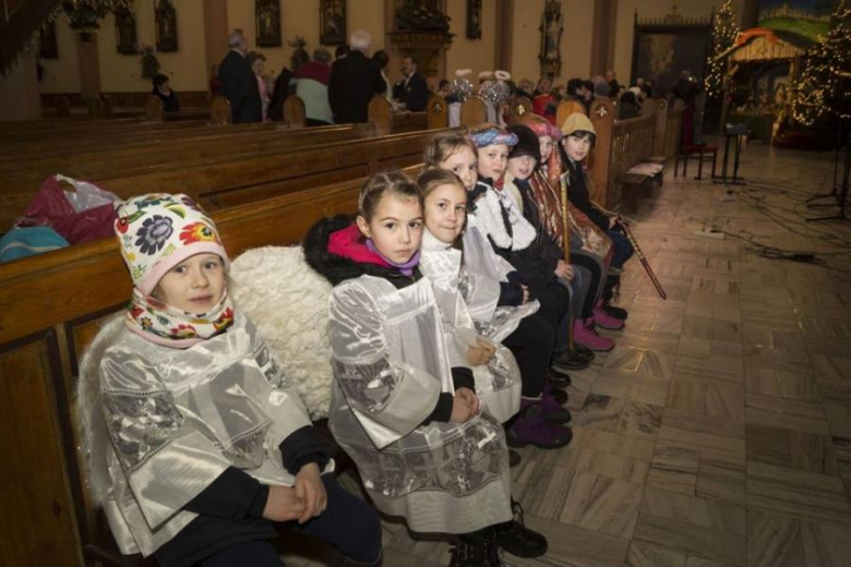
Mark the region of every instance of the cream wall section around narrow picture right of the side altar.
[[467, 2], [450, 0], [447, 15], [455, 37], [446, 51], [446, 75], [452, 79], [458, 69], [472, 69], [469, 79], [478, 85], [479, 73], [493, 71], [496, 63], [496, 0], [482, 1], [481, 39], [467, 39]]

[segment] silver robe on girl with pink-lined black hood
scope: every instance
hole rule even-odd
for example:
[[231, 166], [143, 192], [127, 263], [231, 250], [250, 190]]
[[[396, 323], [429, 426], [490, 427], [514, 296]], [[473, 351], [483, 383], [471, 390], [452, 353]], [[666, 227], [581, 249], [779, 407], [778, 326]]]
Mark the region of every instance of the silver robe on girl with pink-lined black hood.
[[328, 424], [375, 506], [419, 532], [466, 533], [512, 518], [502, 425], [422, 422], [453, 393], [428, 278], [396, 289], [363, 275], [336, 286], [328, 337], [334, 363]]

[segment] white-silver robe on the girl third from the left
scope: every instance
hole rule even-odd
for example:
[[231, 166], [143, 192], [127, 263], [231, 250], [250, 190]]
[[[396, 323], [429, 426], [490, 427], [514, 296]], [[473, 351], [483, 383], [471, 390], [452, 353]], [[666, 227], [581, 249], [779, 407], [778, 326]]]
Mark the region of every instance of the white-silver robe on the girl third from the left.
[[[496, 348], [488, 364], [472, 366], [472, 375], [476, 379], [476, 395], [486, 410], [505, 423], [520, 409], [520, 369], [507, 348], [480, 335], [476, 328], [458, 291], [458, 280], [465, 272], [462, 266], [462, 251], [441, 242], [424, 230], [420, 254], [420, 269], [434, 286], [451, 365], [470, 367], [468, 350], [477, 345], [479, 337]], [[469, 282], [470, 278], [467, 278], [467, 281]], [[492, 286], [489, 286], [490, 288]], [[499, 281], [495, 289], [499, 299]], [[514, 327], [516, 326], [515, 323]], [[488, 330], [494, 329], [489, 326]]]

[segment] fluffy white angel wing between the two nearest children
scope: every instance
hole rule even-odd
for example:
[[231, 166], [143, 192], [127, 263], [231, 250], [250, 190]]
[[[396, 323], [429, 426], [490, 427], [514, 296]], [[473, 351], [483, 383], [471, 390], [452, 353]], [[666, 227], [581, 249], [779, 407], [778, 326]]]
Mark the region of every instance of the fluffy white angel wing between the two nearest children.
[[278, 359], [312, 420], [328, 417], [331, 284], [304, 261], [301, 246], [247, 250], [230, 264], [228, 293]]

